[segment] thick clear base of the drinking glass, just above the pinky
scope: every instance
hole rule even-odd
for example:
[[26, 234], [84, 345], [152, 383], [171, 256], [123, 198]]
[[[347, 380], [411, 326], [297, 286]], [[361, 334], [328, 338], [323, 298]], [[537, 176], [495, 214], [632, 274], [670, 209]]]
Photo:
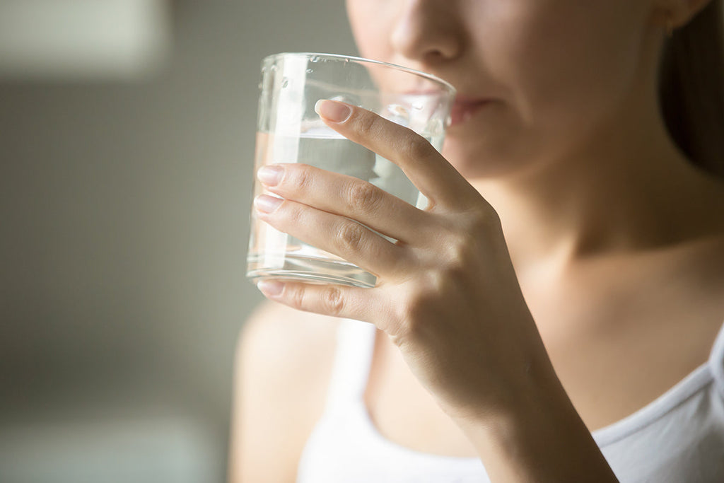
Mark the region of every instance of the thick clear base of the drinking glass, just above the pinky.
[[[374, 287], [377, 277], [347, 261], [319, 259], [310, 256], [295, 256], [287, 253], [274, 258], [273, 266], [269, 256], [251, 254], [247, 258], [246, 276], [253, 280], [292, 280], [306, 283], [350, 285], [353, 287]], [[264, 263], [267, 261], [267, 263]]]

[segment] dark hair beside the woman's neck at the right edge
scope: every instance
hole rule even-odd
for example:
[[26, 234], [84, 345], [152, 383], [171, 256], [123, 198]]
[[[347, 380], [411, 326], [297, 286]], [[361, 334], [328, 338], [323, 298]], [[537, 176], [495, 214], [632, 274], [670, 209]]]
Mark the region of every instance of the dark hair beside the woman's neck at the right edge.
[[712, 0], [666, 40], [659, 98], [675, 143], [702, 169], [724, 177], [724, 11]]

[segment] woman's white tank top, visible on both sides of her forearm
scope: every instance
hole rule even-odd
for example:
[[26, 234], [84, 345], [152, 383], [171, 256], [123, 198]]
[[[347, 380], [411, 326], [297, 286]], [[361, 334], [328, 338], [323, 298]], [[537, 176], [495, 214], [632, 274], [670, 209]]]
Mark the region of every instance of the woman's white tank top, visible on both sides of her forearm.
[[[386, 440], [363, 400], [376, 329], [342, 321], [327, 406], [298, 483], [487, 483], [477, 458], [421, 453]], [[621, 483], [724, 483], [724, 325], [707, 363], [644, 408], [593, 433]]]

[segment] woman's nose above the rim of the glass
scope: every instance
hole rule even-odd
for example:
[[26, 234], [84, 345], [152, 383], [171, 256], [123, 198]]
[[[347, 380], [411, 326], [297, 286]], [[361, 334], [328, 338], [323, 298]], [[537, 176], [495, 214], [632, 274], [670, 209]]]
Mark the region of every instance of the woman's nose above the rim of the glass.
[[455, 1], [404, 0], [392, 30], [397, 54], [421, 64], [454, 59], [463, 49], [463, 27], [455, 12]]

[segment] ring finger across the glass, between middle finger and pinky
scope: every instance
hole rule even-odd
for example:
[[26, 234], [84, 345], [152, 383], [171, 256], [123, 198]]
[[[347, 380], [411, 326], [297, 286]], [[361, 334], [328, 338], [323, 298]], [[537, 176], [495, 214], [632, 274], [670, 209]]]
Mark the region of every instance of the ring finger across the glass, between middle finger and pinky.
[[409, 254], [351, 219], [303, 203], [261, 195], [254, 200], [258, 217], [279, 231], [334, 253], [377, 276], [405, 273]]

